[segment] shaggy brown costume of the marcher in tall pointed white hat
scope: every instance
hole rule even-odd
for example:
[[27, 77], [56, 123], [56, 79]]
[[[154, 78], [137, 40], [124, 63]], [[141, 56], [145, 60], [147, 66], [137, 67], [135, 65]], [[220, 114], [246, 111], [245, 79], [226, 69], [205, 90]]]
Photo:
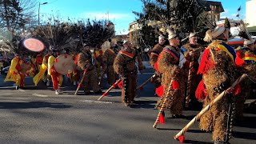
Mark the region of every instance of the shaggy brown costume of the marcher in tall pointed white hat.
[[[157, 107], [161, 108], [162, 102], [166, 94], [168, 93], [168, 88], [170, 87], [170, 82], [172, 79], [175, 79], [178, 82], [178, 90], [174, 90], [173, 88], [168, 95], [169, 99], [166, 102], [166, 107], [170, 107], [171, 114], [181, 115], [183, 106], [183, 98], [185, 96], [185, 83], [183, 70], [178, 66], [180, 51], [177, 50], [174, 46], [166, 46], [164, 50], [162, 50], [161, 54], [158, 57], [158, 71], [162, 74], [162, 85], [164, 87], [164, 94], [162, 98], [158, 101]], [[179, 72], [178, 72], [178, 71]], [[173, 99], [173, 100], [171, 100]]]

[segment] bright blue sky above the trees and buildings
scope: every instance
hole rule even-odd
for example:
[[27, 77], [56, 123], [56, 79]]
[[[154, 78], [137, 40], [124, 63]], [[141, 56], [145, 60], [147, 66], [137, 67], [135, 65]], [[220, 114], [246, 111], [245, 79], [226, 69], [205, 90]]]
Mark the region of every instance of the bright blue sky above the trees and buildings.
[[[241, 18], [246, 17], [246, 0], [212, 0], [222, 2], [225, 10], [221, 18], [235, 18], [238, 14], [239, 6], [242, 6], [240, 12]], [[109, 19], [114, 23], [116, 34], [128, 34], [130, 22], [136, 20], [132, 11], [141, 12], [141, 0], [38, 0], [40, 5], [40, 18], [46, 20], [50, 16], [59, 16], [63, 20], [70, 18], [72, 22], [77, 20], [90, 19]]]

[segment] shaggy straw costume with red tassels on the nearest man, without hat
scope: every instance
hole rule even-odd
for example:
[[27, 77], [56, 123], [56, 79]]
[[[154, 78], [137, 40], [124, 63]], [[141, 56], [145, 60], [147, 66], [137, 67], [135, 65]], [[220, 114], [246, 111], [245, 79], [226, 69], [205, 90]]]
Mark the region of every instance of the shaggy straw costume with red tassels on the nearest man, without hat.
[[[226, 90], [234, 82], [235, 77], [235, 52], [234, 49], [221, 40], [214, 40], [206, 48], [202, 55], [202, 60], [198, 69], [198, 74], [202, 74], [204, 82], [198, 89], [206, 88], [206, 98], [203, 107], [214, 100], [218, 94]], [[204, 91], [204, 90], [201, 90]], [[196, 95], [197, 98], [198, 95]], [[199, 98], [203, 99], [203, 98]], [[225, 141], [227, 113], [230, 102], [228, 96], [224, 96], [222, 101], [217, 102], [200, 119], [201, 130], [213, 131], [214, 141]]]

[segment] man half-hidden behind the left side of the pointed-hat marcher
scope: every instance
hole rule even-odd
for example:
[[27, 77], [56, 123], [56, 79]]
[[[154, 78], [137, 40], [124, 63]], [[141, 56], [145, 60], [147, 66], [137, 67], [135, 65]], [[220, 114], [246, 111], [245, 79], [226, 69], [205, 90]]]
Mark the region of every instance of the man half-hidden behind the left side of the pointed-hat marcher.
[[[165, 37], [160, 35], [158, 37], [158, 44], [154, 45], [153, 49], [150, 50], [150, 65], [154, 67], [154, 64], [158, 61], [158, 55], [162, 52], [165, 43]], [[156, 76], [151, 79], [154, 82], [154, 88], [161, 86], [161, 74], [155, 72]]]

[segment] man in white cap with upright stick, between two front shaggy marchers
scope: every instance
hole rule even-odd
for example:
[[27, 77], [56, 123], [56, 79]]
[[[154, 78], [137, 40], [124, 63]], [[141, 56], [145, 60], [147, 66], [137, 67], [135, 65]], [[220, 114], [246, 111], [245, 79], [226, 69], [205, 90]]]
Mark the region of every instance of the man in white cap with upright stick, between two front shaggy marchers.
[[[186, 62], [183, 66], [183, 69], [186, 74], [185, 76], [186, 87], [190, 86], [189, 87], [190, 90], [186, 88], [186, 90], [188, 90], [186, 91], [186, 97], [187, 96], [190, 97], [190, 100], [191, 100], [190, 106], [193, 106], [193, 104], [198, 106], [198, 101], [195, 98], [194, 94], [195, 94], [195, 90], [198, 87], [199, 82], [202, 80], [202, 75], [197, 74], [197, 72], [198, 72], [198, 66], [199, 66], [199, 62], [200, 62], [204, 47], [198, 44], [198, 35], [196, 33], [190, 33], [189, 43], [187, 43], [186, 45], [183, 45], [181, 49], [186, 58]], [[188, 82], [189, 70], [190, 70], [190, 82]]]

